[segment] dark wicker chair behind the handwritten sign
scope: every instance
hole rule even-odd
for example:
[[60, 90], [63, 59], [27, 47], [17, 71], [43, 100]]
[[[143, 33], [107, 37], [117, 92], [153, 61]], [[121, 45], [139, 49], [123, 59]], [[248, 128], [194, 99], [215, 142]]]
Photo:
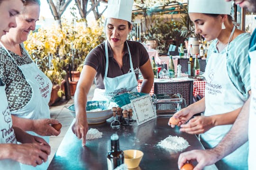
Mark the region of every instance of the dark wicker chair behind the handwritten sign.
[[[193, 81], [179, 81], [179, 82], [155, 82], [155, 94], [175, 94], [180, 93], [185, 99], [186, 105], [193, 103]], [[158, 103], [156, 110], [176, 110], [177, 104], [175, 103]], [[181, 104], [181, 108], [185, 107], [185, 103]]]

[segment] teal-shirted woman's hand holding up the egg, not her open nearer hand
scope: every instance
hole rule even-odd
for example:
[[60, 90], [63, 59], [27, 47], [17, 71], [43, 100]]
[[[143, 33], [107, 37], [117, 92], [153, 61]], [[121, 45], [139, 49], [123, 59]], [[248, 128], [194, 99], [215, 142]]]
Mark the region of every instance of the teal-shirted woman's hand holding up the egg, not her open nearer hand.
[[[181, 126], [185, 122], [187, 122], [193, 116], [192, 111], [189, 108], [183, 108], [182, 110], [178, 111], [173, 115], [174, 119], [179, 119], [179, 123], [177, 126]], [[171, 118], [170, 118], [171, 119]], [[168, 122], [168, 125], [171, 127], [175, 127], [171, 122]]]

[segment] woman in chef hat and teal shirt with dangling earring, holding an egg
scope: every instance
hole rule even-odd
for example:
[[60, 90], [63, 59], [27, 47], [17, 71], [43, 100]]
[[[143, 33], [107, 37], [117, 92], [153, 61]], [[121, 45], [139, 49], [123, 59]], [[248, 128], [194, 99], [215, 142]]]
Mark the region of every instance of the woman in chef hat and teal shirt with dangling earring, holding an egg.
[[[231, 2], [189, 0], [195, 32], [211, 41], [204, 76], [205, 97], [174, 114], [185, 123], [180, 131], [201, 134], [205, 148], [216, 146], [229, 131], [250, 93], [248, 46], [250, 35], [233, 25]], [[169, 123], [171, 125], [171, 123]], [[174, 125], [172, 125], [173, 127]], [[232, 140], [232, 139], [230, 139]], [[247, 170], [248, 144], [216, 163], [219, 170]]]

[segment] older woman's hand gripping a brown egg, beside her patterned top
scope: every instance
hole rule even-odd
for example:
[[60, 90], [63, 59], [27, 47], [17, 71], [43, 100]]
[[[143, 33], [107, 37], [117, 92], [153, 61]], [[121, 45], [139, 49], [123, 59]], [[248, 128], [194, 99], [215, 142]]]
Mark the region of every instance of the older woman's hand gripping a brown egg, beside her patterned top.
[[36, 119], [33, 123], [33, 131], [41, 136], [58, 136], [60, 130], [57, 131], [51, 124], [58, 124], [55, 119]]

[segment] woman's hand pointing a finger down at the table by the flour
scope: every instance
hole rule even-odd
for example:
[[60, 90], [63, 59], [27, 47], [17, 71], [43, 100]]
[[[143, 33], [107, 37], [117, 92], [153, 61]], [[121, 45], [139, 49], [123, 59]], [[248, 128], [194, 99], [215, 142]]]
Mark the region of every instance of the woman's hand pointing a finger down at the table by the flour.
[[86, 143], [86, 134], [88, 132], [88, 123], [87, 119], [84, 117], [76, 118], [72, 131], [77, 136], [78, 139], [82, 138], [82, 146], [85, 146]]

